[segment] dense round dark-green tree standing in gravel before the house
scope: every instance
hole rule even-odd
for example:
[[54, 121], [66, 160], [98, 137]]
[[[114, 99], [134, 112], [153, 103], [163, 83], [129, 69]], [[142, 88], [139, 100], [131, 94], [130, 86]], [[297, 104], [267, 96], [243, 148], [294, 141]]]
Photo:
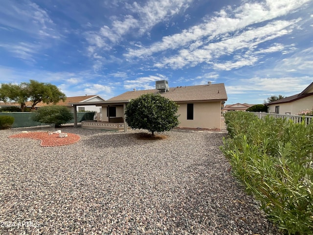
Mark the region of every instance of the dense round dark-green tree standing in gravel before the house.
[[129, 102], [125, 115], [128, 125], [155, 132], [169, 131], [178, 126], [178, 104], [160, 94], [143, 94]]

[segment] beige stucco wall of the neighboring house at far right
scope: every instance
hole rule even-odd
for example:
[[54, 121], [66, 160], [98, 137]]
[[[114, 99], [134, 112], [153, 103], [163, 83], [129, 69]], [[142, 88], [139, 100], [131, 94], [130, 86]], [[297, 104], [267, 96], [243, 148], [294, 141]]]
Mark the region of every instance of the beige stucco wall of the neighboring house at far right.
[[302, 99], [295, 100], [289, 103], [271, 104], [268, 105], [268, 113], [275, 113], [275, 106], [279, 106], [279, 113], [290, 113], [293, 115], [299, 114], [303, 110], [312, 110], [313, 108], [313, 95], [307, 96]]

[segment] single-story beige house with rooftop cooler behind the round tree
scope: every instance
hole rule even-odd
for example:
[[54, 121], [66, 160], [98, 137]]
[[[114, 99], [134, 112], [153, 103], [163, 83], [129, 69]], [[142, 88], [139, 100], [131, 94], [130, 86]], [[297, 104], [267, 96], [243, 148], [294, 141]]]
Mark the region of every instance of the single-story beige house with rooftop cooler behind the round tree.
[[[156, 89], [125, 92], [112, 97], [105, 102], [91, 102], [102, 107], [101, 117], [96, 122], [85, 121], [82, 127], [103, 128], [103, 129], [124, 129], [127, 131], [125, 121], [125, 108], [131, 99], [142, 94], [161, 94], [162, 96], [179, 104], [179, 127], [221, 129], [222, 103], [227, 100], [224, 83], [198, 86], [168, 87], [168, 82], [156, 81]], [[86, 104], [86, 102], [84, 103]], [[79, 103], [71, 103], [76, 106]], [[74, 112], [75, 120], [75, 112]], [[74, 123], [77, 126], [76, 123]]]

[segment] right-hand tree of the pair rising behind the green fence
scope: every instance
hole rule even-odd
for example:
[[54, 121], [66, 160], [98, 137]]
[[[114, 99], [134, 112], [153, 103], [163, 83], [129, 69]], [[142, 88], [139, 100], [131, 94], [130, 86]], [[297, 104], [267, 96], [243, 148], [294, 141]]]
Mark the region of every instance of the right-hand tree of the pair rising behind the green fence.
[[62, 93], [55, 85], [50, 83], [37, 82], [30, 80], [27, 84], [29, 100], [32, 101], [31, 110], [35, 109], [35, 105], [40, 103], [49, 104], [57, 103], [61, 99], [65, 101], [66, 95]]

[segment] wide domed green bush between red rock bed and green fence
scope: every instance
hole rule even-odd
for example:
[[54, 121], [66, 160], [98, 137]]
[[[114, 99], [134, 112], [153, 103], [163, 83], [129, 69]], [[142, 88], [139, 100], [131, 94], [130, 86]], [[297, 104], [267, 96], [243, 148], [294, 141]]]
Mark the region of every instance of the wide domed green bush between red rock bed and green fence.
[[33, 121], [55, 124], [55, 127], [60, 127], [72, 118], [73, 114], [67, 107], [61, 105], [49, 105], [38, 109], [32, 119]]

